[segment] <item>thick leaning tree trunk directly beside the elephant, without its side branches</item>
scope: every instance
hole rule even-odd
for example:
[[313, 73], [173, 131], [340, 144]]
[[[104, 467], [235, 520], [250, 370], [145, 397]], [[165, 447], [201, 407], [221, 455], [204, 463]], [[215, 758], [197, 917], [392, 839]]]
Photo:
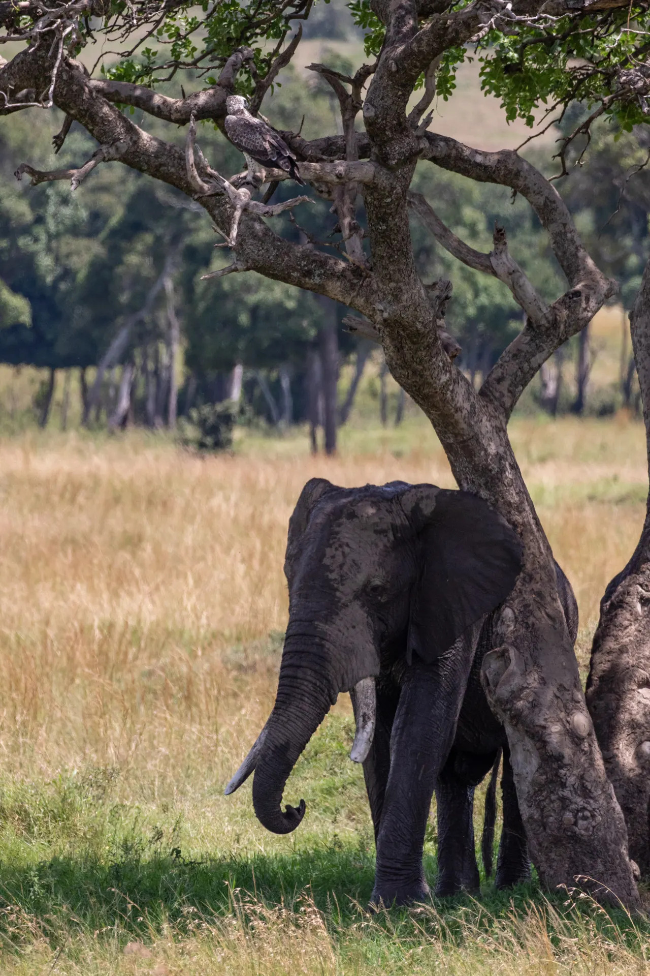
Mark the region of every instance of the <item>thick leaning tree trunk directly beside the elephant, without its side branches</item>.
[[[368, 99], [377, 84], [375, 73]], [[371, 135], [380, 138], [375, 125], [373, 119]], [[625, 822], [587, 711], [557, 596], [553, 552], [508, 438], [519, 381], [502, 357], [472, 398], [463, 374], [440, 355], [436, 313], [417, 277], [401, 210], [400, 181], [408, 185], [410, 179], [401, 171], [364, 194], [373, 271], [386, 309], [376, 322], [391, 373], [430, 418], [458, 486], [499, 511], [522, 544], [522, 569], [495, 626], [482, 679], [508, 736], [531, 858], [552, 891], [578, 885], [603, 901], [635, 907]], [[382, 232], [386, 226], [390, 238]], [[517, 370], [527, 368], [525, 362], [519, 360]]]

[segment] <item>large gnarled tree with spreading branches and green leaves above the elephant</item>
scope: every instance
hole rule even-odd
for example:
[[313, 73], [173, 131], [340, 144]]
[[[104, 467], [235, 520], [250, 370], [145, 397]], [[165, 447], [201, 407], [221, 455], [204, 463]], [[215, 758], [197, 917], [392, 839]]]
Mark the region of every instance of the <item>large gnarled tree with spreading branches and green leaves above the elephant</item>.
[[[292, 23], [306, 20], [310, 9], [310, 0], [260, 0], [254, 6], [234, 0], [208, 3], [197, 17], [179, 0], [135, 0], [117, 8], [105, 7], [103, 0], [58, 0], [45, 13], [33, 0], [19, 9], [3, 4], [7, 35], [25, 45], [0, 69], [2, 110], [56, 104], [67, 116], [57, 143], [68, 120], [81, 123], [98, 143], [76, 168], [46, 172], [24, 163], [20, 170], [34, 183], [70, 179], [76, 185], [97, 166], [119, 161], [200, 203], [231, 251], [220, 276], [255, 270], [364, 316], [393, 376], [436, 428], [459, 486], [501, 512], [522, 544], [523, 568], [496, 628], [498, 646], [484, 660], [483, 680], [506, 726], [521, 814], [542, 882], [554, 888], [579, 877], [598, 897], [633, 907], [638, 895], [625, 823], [585, 705], [557, 599], [552, 551], [507, 432], [522, 390], [554, 350], [590, 322], [615, 286], [594, 264], [566, 205], [539, 170], [516, 152], [484, 152], [442, 137], [429, 130], [425, 116], [436, 92], [442, 98], [452, 94], [455, 67], [472, 44], [483, 88], [502, 99], [507, 117], [520, 115], [532, 124], [542, 102], [560, 109], [575, 100], [590, 104], [590, 118], [560, 145], [564, 170], [568, 148], [594, 118], [609, 116], [627, 130], [645, 119], [647, 4], [355, 0], [366, 54], [375, 61], [354, 76], [312, 66], [336, 96], [342, 135], [314, 132], [309, 124], [296, 133], [298, 119], [294, 131], [283, 132], [303, 180], [331, 203], [344, 254], [308, 235], [298, 241], [283, 236], [282, 223], [265, 223], [286, 221], [287, 210], [305, 209], [300, 197], [284, 199], [282, 207], [253, 199], [256, 183], [277, 183], [284, 172], [226, 183], [195, 146], [194, 120], [221, 127], [226, 97], [235, 90], [249, 95], [253, 112], [259, 110], [300, 41], [298, 27], [286, 44]], [[91, 36], [89, 13], [101, 19], [93, 23], [94, 36], [101, 34], [113, 49], [132, 48], [98, 77], [75, 61]], [[143, 46], [152, 35], [155, 50]], [[178, 72], [185, 72], [188, 88], [196, 73], [206, 87], [189, 94], [182, 88], [155, 91], [158, 81], [172, 82]], [[411, 108], [420, 83], [419, 102]], [[136, 125], [119, 107], [125, 105], [166, 121], [172, 134], [172, 126], [190, 123], [185, 150]], [[363, 131], [357, 132], [360, 111]], [[418, 160], [522, 196], [546, 230], [568, 285], [549, 303], [511, 256], [501, 225], [485, 253], [454, 234], [428, 201], [419, 204], [419, 219], [440, 245], [462, 264], [503, 282], [526, 314], [478, 392], [445, 352], [448, 282], [425, 284], [418, 274], [409, 231]], [[357, 217], [360, 194], [367, 239]]]

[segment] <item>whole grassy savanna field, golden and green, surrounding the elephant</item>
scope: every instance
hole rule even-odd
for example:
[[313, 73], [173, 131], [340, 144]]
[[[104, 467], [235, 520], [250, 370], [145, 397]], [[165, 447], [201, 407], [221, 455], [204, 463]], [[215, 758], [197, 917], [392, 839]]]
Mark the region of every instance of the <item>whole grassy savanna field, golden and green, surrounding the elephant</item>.
[[[576, 590], [600, 595], [642, 522], [642, 426], [518, 419], [519, 462]], [[535, 884], [367, 915], [373, 841], [347, 695], [287, 784], [278, 837], [223, 788], [273, 703], [287, 519], [314, 475], [451, 486], [431, 428], [0, 441], [0, 969], [8, 973], [645, 973], [650, 926]], [[477, 828], [482, 797], [477, 803]], [[436, 871], [432, 819], [426, 852]]]

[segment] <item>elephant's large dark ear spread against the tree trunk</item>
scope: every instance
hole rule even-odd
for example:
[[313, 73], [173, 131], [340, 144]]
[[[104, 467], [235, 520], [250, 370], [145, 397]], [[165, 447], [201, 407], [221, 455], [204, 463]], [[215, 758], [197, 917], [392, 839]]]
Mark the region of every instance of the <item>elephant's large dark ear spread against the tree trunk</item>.
[[421, 574], [411, 598], [408, 656], [431, 662], [515, 586], [521, 546], [476, 495], [442, 491], [421, 530]]

